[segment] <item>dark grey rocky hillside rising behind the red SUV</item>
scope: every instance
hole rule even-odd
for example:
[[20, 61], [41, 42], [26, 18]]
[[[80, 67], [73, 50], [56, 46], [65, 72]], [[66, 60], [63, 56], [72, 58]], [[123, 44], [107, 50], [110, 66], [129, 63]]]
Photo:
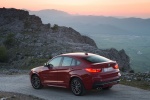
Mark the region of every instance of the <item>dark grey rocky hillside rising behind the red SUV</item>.
[[43, 24], [27, 11], [0, 8], [0, 22], [0, 67], [27, 67], [61, 53], [91, 52], [116, 60], [122, 70], [131, 70], [124, 50], [98, 49], [91, 38], [70, 27]]

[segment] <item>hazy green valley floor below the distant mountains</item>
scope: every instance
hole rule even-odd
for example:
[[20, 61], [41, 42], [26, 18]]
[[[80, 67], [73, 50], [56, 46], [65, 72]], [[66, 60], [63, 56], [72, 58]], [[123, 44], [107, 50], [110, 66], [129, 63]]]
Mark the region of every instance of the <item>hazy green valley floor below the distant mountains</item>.
[[94, 34], [90, 37], [100, 49], [124, 49], [135, 72], [150, 71], [150, 36]]

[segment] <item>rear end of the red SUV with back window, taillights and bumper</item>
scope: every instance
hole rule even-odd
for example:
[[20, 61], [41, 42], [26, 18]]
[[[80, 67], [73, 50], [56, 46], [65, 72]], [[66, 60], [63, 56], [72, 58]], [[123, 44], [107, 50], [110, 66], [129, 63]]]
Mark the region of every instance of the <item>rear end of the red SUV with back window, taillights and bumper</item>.
[[89, 83], [91, 83], [92, 88], [109, 88], [119, 83], [121, 74], [116, 61], [90, 54], [83, 59], [87, 63], [85, 71], [88, 73], [88, 81], [91, 81]]

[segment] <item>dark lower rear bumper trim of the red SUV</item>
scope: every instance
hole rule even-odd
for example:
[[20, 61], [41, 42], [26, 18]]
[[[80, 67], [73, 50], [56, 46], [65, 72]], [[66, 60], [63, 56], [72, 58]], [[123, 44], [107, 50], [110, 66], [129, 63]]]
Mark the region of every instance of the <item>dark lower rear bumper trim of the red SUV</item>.
[[119, 82], [120, 82], [119, 78], [115, 80], [106, 81], [106, 82], [96, 82], [93, 84], [93, 89], [98, 88], [98, 87], [112, 86], [112, 85], [118, 84]]

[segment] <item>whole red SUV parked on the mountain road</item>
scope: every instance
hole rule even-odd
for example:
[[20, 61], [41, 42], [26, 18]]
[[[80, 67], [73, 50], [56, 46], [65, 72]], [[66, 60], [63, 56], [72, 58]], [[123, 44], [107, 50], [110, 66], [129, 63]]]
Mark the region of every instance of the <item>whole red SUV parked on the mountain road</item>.
[[77, 96], [91, 89], [109, 89], [120, 81], [120, 76], [116, 61], [92, 53], [58, 55], [30, 72], [33, 88], [71, 88]]

